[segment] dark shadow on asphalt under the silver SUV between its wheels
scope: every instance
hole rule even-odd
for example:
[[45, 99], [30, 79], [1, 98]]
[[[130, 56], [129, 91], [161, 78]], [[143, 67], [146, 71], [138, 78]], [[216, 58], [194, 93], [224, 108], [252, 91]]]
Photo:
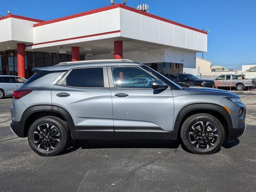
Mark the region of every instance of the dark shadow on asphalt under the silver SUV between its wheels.
[[[178, 140], [75, 140], [61, 154], [81, 149], [99, 148], [170, 148], [177, 149], [181, 142]], [[60, 154], [60, 155], [61, 155]]]

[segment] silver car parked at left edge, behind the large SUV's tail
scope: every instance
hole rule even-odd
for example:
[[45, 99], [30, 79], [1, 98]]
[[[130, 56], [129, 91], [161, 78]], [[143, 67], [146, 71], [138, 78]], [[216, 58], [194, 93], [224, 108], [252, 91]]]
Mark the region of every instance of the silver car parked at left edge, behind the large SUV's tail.
[[14, 90], [18, 89], [27, 80], [18, 76], [0, 75], [0, 99], [4, 96], [12, 96]]

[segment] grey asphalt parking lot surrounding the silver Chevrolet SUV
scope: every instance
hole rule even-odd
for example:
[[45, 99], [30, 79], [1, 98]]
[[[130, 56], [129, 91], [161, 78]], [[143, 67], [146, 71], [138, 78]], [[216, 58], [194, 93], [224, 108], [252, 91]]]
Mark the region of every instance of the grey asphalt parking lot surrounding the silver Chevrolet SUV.
[[9, 129], [12, 98], [0, 100], [0, 191], [256, 191], [256, 91], [246, 104], [246, 132], [211, 155], [170, 140], [85, 140], [61, 155], [34, 153]]

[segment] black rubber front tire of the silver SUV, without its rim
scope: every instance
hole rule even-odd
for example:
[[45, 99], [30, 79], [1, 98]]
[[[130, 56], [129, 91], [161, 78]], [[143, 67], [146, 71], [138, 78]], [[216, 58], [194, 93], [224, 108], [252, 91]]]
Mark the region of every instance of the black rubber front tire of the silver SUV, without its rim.
[[[203, 122], [208, 121], [212, 123], [218, 130], [218, 140], [216, 144], [209, 149], [198, 149], [196, 148], [196, 146], [194, 146], [194, 144], [190, 142], [190, 138], [189, 138], [190, 128], [195, 123], [200, 121], [203, 121]], [[196, 154], [212, 154], [218, 151], [222, 146], [225, 138], [225, 132], [221, 122], [217, 118], [209, 114], [198, 114], [198, 115], [190, 116], [187, 120], [185, 120], [181, 129], [181, 137], [184, 145], [186, 146], [186, 148], [188, 148], [188, 150], [190, 150], [190, 152], [193, 152]]]

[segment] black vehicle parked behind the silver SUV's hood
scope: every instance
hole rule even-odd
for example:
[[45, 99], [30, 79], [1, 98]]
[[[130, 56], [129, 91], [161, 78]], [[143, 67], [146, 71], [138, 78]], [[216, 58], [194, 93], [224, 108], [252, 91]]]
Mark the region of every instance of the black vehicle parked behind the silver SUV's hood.
[[168, 74], [166, 77], [179, 85], [184, 83], [188, 86], [215, 88], [214, 80], [199, 79], [198, 77], [188, 73]]

